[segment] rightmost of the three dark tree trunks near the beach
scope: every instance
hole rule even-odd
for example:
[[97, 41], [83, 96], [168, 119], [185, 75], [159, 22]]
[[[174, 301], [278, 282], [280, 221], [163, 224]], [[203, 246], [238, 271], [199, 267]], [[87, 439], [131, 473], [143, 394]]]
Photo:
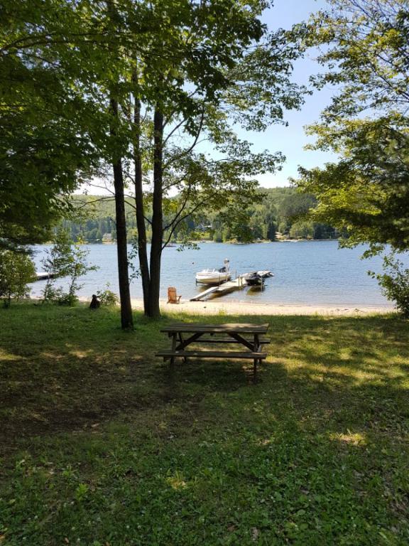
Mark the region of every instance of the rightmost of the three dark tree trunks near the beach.
[[148, 299], [148, 316], [159, 317], [160, 258], [163, 241], [163, 114], [156, 107], [153, 114], [153, 203], [152, 203], [152, 243]]

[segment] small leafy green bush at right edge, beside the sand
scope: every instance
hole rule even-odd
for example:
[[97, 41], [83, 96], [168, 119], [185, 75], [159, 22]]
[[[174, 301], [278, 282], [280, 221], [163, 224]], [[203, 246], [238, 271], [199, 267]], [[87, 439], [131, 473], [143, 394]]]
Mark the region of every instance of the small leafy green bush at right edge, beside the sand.
[[403, 266], [403, 262], [396, 259], [395, 253], [383, 257], [383, 269], [385, 273], [374, 274], [381, 286], [383, 294], [391, 301], [396, 302], [396, 307], [409, 318], [409, 269]]

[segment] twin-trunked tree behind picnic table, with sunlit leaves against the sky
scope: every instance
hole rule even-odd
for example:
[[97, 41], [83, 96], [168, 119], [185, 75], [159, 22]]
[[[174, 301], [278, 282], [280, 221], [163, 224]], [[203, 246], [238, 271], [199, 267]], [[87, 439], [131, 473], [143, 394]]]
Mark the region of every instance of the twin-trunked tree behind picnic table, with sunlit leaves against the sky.
[[[138, 257], [148, 316], [159, 315], [160, 257], [175, 230], [203, 210], [224, 209], [227, 221], [234, 218], [236, 228], [244, 225], [247, 206], [260, 198], [256, 176], [274, 171], [283, 159], [268, 151], [253, 154], [229, 127], [235, 121], [246, 129], [264, 129], [283, 121], [284, 107], [302, 102], [302, 90], [289, 78], [298, 51], [287, 47], [282, 32], [266, 33], [257, 18], [262, 8], [223, 1], [192, 5], [185, 20], [178, 12], [169, 40], [156, 43], [160, 62], [139, 63], [133, 73]], [[172, 14], [171, 9], [161, 12], [167, 24]], [[143, 95], [146, 82], [150, 92]], [[142, 106], [144, 119], [152, 116], [145, 125]], [[204, 139], [217, 159], [198, 151]], [[153, 181], [148, 192], [143, 191], [143, 165], [145, 180]], [[178, 199], [170, 198], [175, 191]], [[147, 203], [153, 211], [149, 258]]]

